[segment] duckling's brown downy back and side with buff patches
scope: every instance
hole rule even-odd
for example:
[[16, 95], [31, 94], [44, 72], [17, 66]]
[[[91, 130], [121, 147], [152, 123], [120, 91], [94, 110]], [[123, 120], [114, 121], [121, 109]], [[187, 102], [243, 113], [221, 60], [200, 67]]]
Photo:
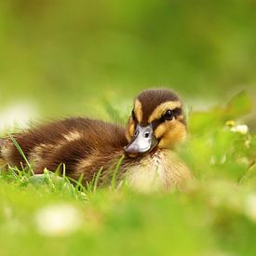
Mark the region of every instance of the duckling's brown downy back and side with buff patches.
[[[124, 128], [88, 118], [70, 118], [31, 128], [14, 138], [33, 163], [35, 173], [42, 173], [44, 168], [54, 171], [64, 163], [69, 176], [77, 179], [83, 173], [87, 181], [102, 166], [108, 168], [120, 157], [128, 143]], [[25, 165], [10, 139], [2, 141], [1, 156], [13, 166]]]

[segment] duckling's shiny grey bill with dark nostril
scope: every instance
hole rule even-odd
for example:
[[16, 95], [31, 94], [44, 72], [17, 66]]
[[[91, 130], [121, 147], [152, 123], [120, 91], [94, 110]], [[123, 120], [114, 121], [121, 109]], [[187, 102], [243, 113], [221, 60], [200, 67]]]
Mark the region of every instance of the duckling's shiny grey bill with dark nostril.
[[152, 124], [145, 127], [138, 125], [133, 138], [125, 147], [125, 151], [130, 156], [148, 153], [155, 148], [157, 142]]

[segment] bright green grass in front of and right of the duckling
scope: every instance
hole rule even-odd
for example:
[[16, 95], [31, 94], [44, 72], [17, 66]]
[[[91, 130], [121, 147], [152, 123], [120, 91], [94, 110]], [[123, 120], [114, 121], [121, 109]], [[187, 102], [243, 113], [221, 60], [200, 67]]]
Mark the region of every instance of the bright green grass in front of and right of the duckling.
[[195, 181], [185, 193], [141, 195], [2, 170], [0, 254], [255, 255], [256, 136], [235, 121], [250, 108], [241, 93], [189, 115], [179, 152]]

